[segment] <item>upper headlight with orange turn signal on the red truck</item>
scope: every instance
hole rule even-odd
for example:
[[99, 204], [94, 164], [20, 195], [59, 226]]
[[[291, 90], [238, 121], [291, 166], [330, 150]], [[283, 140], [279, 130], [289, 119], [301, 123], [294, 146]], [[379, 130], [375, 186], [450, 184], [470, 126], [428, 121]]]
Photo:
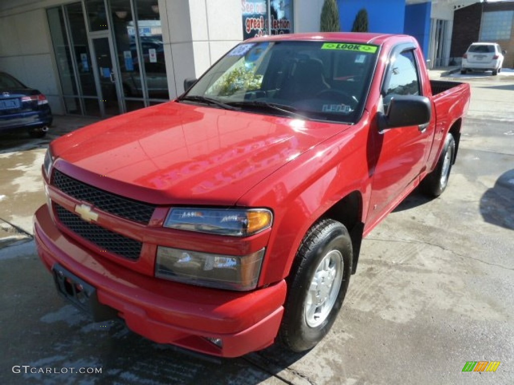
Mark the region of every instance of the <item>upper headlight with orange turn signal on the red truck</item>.
[[265, 208], [219, 209], [219, 208], [172, 208], [165, 227], [247, 237], [271, 226], [273, 215]]

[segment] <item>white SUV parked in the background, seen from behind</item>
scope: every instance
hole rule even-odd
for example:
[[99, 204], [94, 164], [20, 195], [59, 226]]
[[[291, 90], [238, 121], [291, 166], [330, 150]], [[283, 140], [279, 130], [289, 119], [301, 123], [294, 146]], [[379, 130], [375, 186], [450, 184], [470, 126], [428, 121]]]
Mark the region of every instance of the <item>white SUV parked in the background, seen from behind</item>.
[[490, 70], [497, 75], [502, 70], [504, 53], [497, 43], [473, 43], [462, 56], [461, 73]]

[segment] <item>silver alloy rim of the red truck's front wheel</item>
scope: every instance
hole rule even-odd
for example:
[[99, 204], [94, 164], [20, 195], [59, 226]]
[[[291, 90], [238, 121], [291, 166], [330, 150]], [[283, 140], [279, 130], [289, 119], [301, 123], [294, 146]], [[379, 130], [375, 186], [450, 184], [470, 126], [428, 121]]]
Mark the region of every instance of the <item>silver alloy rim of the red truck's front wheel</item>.
[[334, 307], [341, 287], [342, 261], [341, 253], [331, 250], [316, 268], [305, 300], [305, 321], [310, 328], [321, 325]]

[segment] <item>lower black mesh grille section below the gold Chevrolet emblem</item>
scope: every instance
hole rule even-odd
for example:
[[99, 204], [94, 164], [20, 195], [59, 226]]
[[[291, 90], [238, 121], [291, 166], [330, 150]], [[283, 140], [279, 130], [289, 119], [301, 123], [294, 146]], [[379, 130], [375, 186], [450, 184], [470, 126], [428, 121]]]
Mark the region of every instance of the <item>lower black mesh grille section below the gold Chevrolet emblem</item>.
[[79, 216], [54, 203], [57, 219], [75, 234], [96, 244], [98, 247], [121, 257], [137, 260], [142, 243], [121, 234], [113, 233], [94, 223], [84, 221]]

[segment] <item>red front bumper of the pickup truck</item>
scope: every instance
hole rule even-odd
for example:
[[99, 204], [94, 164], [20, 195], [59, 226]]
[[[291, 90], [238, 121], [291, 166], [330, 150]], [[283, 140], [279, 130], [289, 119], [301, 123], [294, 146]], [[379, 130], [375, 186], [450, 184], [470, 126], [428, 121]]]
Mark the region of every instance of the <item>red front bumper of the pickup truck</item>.
[[231, 292], [139, 274], [63, 235], [47, 205], [34, 215], [34, 240], [50, 271], [63, 266], [95, 287], [101, 304], [155, 342], [237, 357], [268, 347], [277, 336], [286, 296], [283, 280], [252, 292]]

